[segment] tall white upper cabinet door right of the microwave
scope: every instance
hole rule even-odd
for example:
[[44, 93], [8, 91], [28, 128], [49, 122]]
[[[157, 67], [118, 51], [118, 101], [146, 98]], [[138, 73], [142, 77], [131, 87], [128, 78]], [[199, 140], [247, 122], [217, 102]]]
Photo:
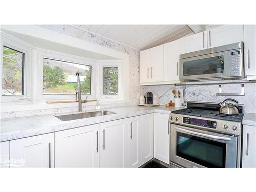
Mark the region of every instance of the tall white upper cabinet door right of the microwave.
[[[244, 26], [244, 70], [245, 76], [256, 75], [255, 25]], [[248, 77], [247, 77], [248, 78]], [[255, 78], [255, 77], [254, 77]], [[251, 79], [251, 78], [250, 78]]]

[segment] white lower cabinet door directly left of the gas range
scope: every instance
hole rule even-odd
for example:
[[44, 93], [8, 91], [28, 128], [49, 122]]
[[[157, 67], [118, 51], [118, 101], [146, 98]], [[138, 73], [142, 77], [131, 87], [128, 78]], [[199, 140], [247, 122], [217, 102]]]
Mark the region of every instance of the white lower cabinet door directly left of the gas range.
[[154, 157], [169, 164], [169, 115], [154, 114]]

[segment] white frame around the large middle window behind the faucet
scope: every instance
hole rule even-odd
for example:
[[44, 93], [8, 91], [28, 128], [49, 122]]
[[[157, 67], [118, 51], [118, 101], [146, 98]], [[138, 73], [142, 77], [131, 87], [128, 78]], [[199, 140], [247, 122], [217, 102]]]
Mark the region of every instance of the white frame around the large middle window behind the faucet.
[[45, 49], [37, 48], [37, 100], [74, 100], [76, 99], [75, 94], [43, 94], [42, 92], [42, 81], [43, 81], [43, 59], [52, 59], [65, 62], [71, 62], [78, 65], [91, 66], [91, 94], [82, 94], [82, 99], [95, 99], [96, 98], [96, 61], [84, 57], [75, 55], [69, 55], [66, 53], [60, 53], [55, 51], [49, 51]]

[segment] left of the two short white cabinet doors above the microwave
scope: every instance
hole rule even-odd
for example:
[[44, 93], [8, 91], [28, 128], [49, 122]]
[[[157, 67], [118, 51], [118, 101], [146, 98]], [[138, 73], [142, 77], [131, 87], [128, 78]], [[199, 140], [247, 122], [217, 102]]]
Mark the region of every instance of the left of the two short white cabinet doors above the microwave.
[[180, 39], [180, 54], [207, 49], [206, 31]]

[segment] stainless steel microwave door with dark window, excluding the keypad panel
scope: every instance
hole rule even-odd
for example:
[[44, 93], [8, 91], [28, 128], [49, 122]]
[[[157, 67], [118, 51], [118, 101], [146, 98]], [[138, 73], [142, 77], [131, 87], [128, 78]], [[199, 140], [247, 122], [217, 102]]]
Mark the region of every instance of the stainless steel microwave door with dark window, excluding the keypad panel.
[[180, 80], [230, 77], [230, 51], [180, 59]]

